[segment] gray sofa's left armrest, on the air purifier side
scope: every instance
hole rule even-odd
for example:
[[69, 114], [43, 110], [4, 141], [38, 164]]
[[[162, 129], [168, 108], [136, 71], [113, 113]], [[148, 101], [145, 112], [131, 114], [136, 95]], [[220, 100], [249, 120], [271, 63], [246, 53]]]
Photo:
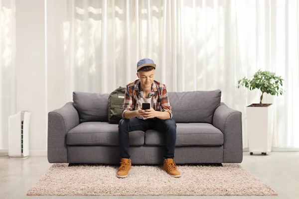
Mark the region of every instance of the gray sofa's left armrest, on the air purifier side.
[[80, 123], [73, 102], [48, 113], [48, 161], [67, 163], [66, 133]]

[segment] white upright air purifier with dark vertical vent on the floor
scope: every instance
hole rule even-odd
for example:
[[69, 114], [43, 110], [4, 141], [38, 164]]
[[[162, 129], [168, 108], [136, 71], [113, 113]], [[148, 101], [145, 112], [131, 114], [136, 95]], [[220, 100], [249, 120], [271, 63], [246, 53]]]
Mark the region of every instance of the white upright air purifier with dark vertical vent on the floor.
[[25, 159], [29, 156], [30, 112], [19, 111], [8, 117], [8, 156]]

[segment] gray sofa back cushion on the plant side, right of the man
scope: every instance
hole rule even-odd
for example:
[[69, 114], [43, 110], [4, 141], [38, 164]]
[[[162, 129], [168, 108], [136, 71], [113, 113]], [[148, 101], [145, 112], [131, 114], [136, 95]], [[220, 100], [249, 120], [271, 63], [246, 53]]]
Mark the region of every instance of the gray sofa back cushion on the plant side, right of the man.
[[168, 92], [168, 99], [175, 122], [211, 124], [221, 91]]

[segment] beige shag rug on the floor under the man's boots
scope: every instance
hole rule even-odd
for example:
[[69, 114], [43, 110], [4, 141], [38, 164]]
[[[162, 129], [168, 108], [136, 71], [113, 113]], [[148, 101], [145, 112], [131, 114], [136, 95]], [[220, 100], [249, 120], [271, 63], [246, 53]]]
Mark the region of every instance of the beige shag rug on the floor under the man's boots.
[[27, 196], [277, 196], [239, 164], [177, 166], [180, 178], [162, 165], [133, 165], [119, 179], [118, 165], [53, 164]]

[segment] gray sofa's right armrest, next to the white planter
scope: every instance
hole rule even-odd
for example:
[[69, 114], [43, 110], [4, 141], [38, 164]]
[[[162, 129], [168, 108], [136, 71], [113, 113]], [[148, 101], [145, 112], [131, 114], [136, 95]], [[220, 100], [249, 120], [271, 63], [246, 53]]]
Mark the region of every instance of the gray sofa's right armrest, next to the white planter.
[[224, 136], [223, 163], [241, 163], [243, 160], [242, 112], [221, 102], [213, 115], [213, 126]]

